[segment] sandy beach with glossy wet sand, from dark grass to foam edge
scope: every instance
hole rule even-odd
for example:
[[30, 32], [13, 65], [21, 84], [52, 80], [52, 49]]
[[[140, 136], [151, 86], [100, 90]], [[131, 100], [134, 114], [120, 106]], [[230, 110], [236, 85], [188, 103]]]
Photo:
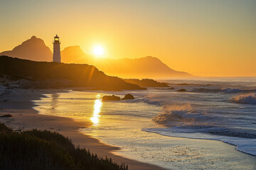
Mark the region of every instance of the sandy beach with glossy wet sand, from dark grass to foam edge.
[[[106, 95], [105, 91], [3, 87], [0, 92], [0, 115], [13, 116], [0, 118], [0, 123], [14, 130], [36, 128], [60, 132], [75, 145], [90, 149], [100, 157], [110, 157], [119, 164], [128, 164], [129, 169], [210, 170], [256, 167], [255, 157], [238, 152], [234, 145], [218, 140], [169, 137], [145, 132], [144, 126], [156, 125], [149, 112], [154, 115], [159, 110], [158, 106], [136, 100], [132, 103], [109, 102], [102, 104], [102, 110], [97, 115], [97, 111], [100, 111], [97, 110], [100, 106], [97, 101], [100, 99], [92, 97]], [[107, 93], [122, 96], [128, 91]], [[120, 116], [121, 113], [128, 117]], [[146, 116], [146, 113], [149, 117], [133, 117], [133, 114]], [[97, 116], [100, 116], [99, 125], [96, 125]]]

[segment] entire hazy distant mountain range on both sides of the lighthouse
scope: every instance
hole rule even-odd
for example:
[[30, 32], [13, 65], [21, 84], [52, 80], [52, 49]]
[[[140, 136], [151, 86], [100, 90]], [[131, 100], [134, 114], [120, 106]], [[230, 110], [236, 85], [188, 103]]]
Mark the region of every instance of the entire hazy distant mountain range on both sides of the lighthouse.
[[[11, 51], [1, 52], [0, 55], [18, 57], [34, 61], [52, 61], [53, 54], [43, 40], [33, 36]], [[168, 77], [191, 77], [186, 72], [178, 72], [171, 69], [156, 57], [142, 57], [136, 59], [108, 59], [96, 60], [95, 57], [85, 54], [79, 46], [65, 47], [61, 51], [61, 61], [64, 63], [92, 64], [108, 75], [123, 78], [168, 78]]]

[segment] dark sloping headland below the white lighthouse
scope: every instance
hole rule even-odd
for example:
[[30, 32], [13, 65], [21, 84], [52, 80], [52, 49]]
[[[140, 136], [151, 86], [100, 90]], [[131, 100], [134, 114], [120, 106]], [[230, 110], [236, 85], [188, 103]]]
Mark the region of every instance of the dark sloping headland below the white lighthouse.
[[[142, 90], [118, 77], [110, 77], [88, 64], [64, 64], [58, 62], [34, 62], [0, 56], [1, 77], [26, 80], [28, 88], [87, 87], [102, 90]], [[17, 84], [17, 83], [16, 83]], [[23, 85], [23, 84], [21, 84]]]

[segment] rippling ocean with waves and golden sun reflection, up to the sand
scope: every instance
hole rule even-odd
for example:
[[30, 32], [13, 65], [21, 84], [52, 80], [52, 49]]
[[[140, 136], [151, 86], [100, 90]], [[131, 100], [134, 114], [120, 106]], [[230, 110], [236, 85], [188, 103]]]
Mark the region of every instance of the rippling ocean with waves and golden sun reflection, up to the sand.
[[[256, 169], [256, 77], [161, 81], [170, 87], [46, 94], [35, 109], [89, 120], [80, 131], [116, 154], [167, 169]], [[110, 94], [135, 99], [101, 101]]]

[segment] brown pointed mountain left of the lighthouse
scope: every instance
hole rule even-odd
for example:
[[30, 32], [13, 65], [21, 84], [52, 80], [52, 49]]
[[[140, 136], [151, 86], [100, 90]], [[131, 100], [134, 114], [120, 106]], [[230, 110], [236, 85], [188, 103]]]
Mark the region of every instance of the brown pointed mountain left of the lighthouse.
[[53, 60], [53, 53], [50, 48], [46, 46], [42, 39], [36, 38], [36, 36], [32, 36], [31, 39], [22, 42], [21, 45], [14, 47], [13, 50], [1, 52], [0, 55], [39, 62]]

